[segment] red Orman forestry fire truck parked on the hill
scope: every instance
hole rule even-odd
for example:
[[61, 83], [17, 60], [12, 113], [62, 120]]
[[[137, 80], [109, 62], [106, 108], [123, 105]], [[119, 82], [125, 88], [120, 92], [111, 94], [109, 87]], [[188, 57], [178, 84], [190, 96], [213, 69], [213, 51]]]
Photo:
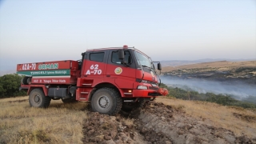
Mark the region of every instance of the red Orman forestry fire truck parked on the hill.
[[20, 90], [27, 91], [30, 106], [86, 101], [93, 111], [110, 115], [168, 94], [158, 86], [158, 70], [149, 56], [128, 46], [86, 50], [78, 61], [17, 65], [17, 73], [25, 75]]

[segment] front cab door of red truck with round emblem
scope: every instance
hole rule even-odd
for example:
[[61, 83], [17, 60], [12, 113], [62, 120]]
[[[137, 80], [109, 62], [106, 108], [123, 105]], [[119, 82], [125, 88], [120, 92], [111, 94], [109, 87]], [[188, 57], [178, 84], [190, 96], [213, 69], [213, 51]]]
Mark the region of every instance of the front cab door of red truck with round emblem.
[[118, 59], [118, 50], [110, 50], [107, 58], [106, 78], [114, 78], [119, 88], [132, 89], [135, 82], [135, 61], [130, 50], [124, 50], [126, 65]]

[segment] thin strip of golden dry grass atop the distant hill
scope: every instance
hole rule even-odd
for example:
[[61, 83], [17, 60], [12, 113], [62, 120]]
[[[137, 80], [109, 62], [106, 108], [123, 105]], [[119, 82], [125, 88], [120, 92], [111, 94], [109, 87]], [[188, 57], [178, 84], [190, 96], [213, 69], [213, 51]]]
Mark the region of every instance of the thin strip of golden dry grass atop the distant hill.
[[197, 68], [218, 68], [218, 70], [231, 70], [233, 68], [239, 67], [255, 67], [256, 61], [245, 61], [245, 62], [228, 62], [228, 61], [220, 61], [220, 62], [203, 62], [198, 64], [190, 64], [183, 66], [165, 66], [162, 67], [162, 72], [168, 72], [172, 70], [178, 69], [197, 69]]

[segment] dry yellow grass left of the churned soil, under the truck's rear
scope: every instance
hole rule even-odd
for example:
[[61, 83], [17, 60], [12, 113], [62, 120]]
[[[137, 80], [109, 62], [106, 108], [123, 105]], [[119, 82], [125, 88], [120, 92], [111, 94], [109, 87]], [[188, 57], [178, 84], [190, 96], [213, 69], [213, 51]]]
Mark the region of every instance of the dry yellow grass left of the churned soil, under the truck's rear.
[[82, 143], [86, 103], [51, 101], [29, 106], [28, 97], [0, 99], [0, 143]]

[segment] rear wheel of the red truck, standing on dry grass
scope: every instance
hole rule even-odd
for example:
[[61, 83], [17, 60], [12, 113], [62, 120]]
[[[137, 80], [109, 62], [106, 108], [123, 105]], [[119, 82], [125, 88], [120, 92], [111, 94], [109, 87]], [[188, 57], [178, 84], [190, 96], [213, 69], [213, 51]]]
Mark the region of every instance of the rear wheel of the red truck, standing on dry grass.
[[41, 89], [34, 89], [30, 92], [30, 106], [46, 108], [50, 105], [51, 98], [46, 97]]

